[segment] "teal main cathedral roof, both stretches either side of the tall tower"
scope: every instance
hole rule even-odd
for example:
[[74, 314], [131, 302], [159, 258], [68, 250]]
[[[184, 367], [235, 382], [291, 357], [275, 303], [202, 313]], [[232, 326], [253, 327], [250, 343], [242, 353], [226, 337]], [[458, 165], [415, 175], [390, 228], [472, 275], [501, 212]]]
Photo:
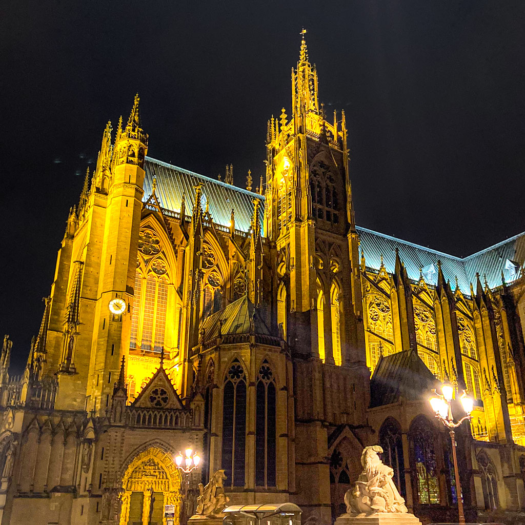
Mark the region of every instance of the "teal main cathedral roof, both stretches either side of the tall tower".
[[[182, 195], [185, 194], [186, 214], [190, 215], [195, 202], [194, 186], [202, 183], [202, 206], [205, 206], [206, 198], [208, 198], [209, 213], [213, 221], [228, 226], [233, 208], [235, 227], [243, 232], [247, 232], [250, 227], [254, 209], [253, 199], [258, 198], [264, 202], [264, 196], [258, 193], [249, 192], [151, 157], [146, 157], [144, 168], [146, 172], [144, 199], [151, 195], [153, 176], [155, 176], [157, 181], [155, 194], [161, 206], [178, 212], [181, 208]], [[264, 206], [259, 207], [261, 226], [263, 208]], [[470, 283], [474, 285], [476, 283], [476, 272], [481, 275], [482, 282], [483, 276], [486, 275], [490, 288], [495, 288], [501, 285], [502, 270], [506, 281], [511, 282], [519, 276], [520, 267], [525, 261], [525, 232], [468, 257], [460, 258], [361, 226], [358, 226], [357, 230], [367, 267], [379, 269], [381, 256], [383, 256], [386, 271], [392, 273], [395, 267], [397, 247], [410, 279], [418, 280], [419, 268], [422, 268], [426, 282], [435, 285], [437, 261], [440, 260], [445, 279], [449, 279], [454, 287], [457, 277], [459, 288], [467, 294], [470, 293]]]

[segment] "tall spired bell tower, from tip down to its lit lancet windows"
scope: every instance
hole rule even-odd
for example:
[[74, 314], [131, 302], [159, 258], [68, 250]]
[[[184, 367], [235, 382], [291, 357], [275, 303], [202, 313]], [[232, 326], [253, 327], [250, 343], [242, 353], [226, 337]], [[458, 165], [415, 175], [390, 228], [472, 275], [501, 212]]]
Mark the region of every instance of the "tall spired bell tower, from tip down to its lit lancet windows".
[[329, 122], [319, 103], [305, 34], [291, 74], [291, 117], [282, 108], [268, 121], [265, 235], [277, 249], [277, 324], [297, 353], [364, 363], [345, 116], [334, 111]]

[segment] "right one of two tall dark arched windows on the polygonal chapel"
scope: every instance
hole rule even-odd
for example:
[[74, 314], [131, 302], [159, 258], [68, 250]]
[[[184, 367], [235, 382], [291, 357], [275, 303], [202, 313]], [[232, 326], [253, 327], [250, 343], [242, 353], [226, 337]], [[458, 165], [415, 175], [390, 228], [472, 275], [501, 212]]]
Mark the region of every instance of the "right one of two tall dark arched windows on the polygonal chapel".
[[255, 485], [276, 486], [276, 389], [274, 374], [265, 359], [257, 375]]

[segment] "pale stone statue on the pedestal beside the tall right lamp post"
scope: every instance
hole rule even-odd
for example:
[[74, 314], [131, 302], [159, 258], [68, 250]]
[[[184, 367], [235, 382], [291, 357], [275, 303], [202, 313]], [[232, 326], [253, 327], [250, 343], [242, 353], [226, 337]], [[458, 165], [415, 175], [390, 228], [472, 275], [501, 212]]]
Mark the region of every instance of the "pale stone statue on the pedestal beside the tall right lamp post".
[[384, 465], [377, 455], [382, 452], [379, 445], [364, 448], [361, 454], [363, 471], [354, 489], [344, 495], [347, 514], [364, 517], [375, 512], [408, 512], [392, 480], [394, 470]]

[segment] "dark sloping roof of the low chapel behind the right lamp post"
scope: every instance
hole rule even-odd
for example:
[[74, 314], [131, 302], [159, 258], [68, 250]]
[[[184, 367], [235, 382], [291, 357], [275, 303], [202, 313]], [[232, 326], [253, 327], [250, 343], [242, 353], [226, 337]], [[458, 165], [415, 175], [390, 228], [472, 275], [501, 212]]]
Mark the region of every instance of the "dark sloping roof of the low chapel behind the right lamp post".
[[382, 357], [370, 380], [370, 408], [422, 398], [436, 388], [438, 380], [414, 350], [404, 350]]

